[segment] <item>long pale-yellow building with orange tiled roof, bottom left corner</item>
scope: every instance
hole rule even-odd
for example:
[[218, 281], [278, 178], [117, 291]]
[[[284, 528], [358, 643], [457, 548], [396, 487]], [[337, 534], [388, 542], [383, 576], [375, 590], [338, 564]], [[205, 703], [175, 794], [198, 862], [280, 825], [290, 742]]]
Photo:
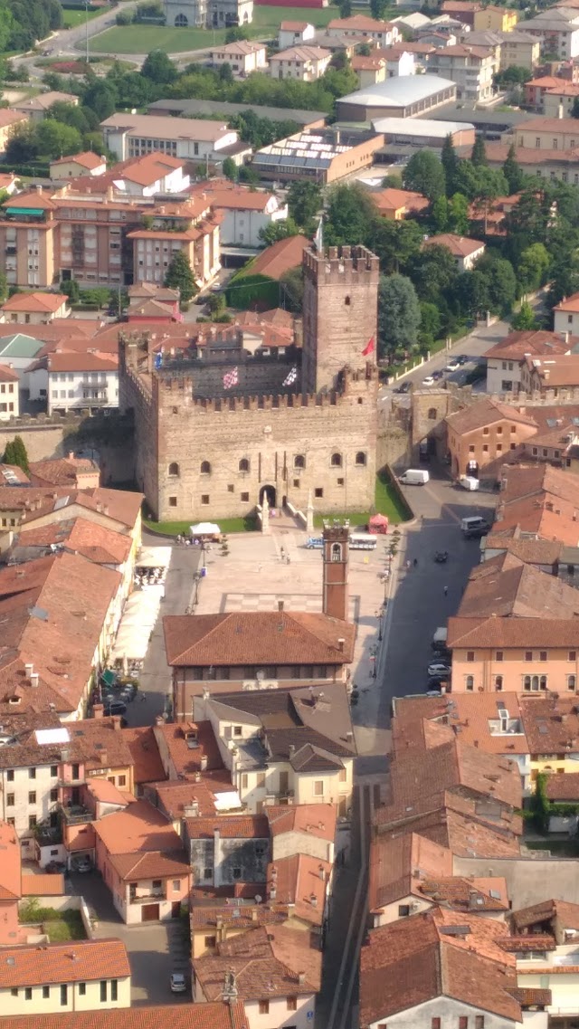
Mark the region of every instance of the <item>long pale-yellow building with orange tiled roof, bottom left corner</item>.
[[5, 1016], [131, 1007], [131, 966], [120, 939], [5, 947], [0, 965]]

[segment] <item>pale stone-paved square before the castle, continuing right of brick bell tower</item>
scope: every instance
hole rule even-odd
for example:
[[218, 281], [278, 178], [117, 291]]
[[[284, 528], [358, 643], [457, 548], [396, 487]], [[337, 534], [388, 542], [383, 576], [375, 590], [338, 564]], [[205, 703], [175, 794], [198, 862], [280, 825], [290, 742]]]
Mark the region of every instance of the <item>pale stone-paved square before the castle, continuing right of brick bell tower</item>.
[[[195, 613], [274, 611], [279, 600], [288, 611], [321, 611], [322, 558], [320, 551], [305, 548], [306, 539], [305, 531], [272, 522], [268, 535], [229, 536], [226, 557], [219, 546], [213, 546], [206, 556], [207, 576], [201, 582]], [[381, 680], [373, 675], [379, 661], [376, 651], [385, 599], [381, 573], [388, 564], [390, 536], [376, 539], [375, 551], [350, 553], [350, 617], [358, 628], [352, 683], [359, 690], [352, 715], [360, 754], [384, 753], [388, 742], [387, 731], [376, 729]], [[289, 555], [289, 565], [282, 560], [282, 548]]]

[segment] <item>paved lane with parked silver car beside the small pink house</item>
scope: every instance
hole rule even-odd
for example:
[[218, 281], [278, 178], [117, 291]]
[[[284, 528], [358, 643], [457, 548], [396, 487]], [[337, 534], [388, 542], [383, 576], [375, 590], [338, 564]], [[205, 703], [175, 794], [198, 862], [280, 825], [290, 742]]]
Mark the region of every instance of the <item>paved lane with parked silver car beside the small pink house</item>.
[[121, 939], [129, 952], [132, 972], [131, 1001], [140, 1004], [175, 1004], [190, 1001], [190, 994], [171, 993], [172, 971], [190, 972], [187, 923], [147, 922], [125, 925], [112, 903], [110, 891], [98, 872], [75, 875], [68, 880], [69, 892], [84, 897], [91, 912], [98, 916], [95, 936]]

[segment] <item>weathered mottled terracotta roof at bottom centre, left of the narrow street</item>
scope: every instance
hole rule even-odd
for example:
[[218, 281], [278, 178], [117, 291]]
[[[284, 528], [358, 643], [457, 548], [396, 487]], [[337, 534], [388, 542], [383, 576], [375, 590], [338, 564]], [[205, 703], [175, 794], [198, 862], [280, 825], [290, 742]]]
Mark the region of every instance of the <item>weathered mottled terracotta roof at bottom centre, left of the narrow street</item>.
[[309, 946], [301, 929], [267, 925], [219, 944], [217, 954], [194, 959], [193, 968], [207, 1000], [221, 996], [226, 971], [233, 972], [240, 999], [246, 1001], [302, 996], [320, 989], [322, 954]]

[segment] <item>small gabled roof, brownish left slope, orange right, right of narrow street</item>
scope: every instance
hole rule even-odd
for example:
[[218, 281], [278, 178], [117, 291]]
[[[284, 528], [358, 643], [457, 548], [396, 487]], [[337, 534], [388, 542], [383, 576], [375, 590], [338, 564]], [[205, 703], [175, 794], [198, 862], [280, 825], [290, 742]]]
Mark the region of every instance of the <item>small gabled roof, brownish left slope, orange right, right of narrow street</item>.
[[423, 880], [451, 874], [453, 854], [431, 840], [415, 832], [378, 836], [370, 847], [368, 907], [375, 911], [409, 893], [418, 894]]

